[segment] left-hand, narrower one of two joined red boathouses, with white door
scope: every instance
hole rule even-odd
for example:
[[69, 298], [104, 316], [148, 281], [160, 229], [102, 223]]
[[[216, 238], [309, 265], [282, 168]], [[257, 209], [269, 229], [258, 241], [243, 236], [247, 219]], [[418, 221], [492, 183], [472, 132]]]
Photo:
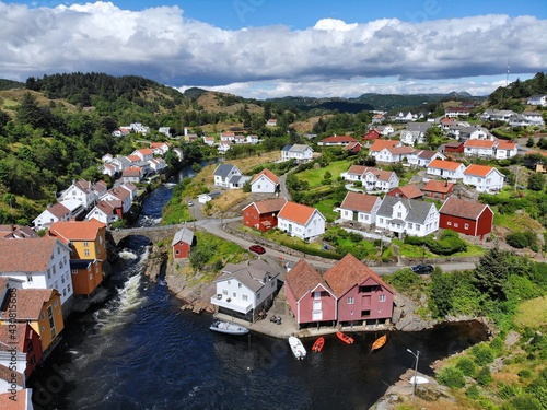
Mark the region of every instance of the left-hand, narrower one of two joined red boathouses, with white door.
[[304, 259], [284, 277], [287, 302], [296, 325], [336, 320], [336, 296], [323, 277]]

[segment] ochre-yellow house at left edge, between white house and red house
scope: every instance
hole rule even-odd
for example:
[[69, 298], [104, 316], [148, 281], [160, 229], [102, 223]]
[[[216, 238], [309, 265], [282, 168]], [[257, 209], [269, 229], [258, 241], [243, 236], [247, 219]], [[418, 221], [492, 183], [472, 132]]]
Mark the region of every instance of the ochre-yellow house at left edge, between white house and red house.
[[4, 306], [0, 320], [28, 323], [39, 335], [43, 352], [55, 345], [65, 329], [61, 296], [55, 289], [10, 289]]

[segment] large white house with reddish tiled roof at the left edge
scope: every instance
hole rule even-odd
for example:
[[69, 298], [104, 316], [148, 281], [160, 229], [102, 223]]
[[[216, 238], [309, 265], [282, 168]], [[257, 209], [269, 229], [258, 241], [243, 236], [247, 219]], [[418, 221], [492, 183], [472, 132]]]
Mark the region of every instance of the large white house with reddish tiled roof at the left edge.
[[74, 293], [70, 248], [54, 236], [0, 241], [0, 277], [20, 280], [23, 289], [56, 289], [61, 304]]

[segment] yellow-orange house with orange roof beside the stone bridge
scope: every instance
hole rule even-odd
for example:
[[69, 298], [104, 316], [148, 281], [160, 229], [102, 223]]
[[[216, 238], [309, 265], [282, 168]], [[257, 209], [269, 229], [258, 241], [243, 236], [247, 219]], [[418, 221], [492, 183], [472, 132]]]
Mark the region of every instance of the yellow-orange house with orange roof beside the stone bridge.
[[55, 222], [49, 227], [49, 235], [70, 246], [70, 271], [74, 293], [91, 294], [104, 277], [106, 225], [94, 219]]

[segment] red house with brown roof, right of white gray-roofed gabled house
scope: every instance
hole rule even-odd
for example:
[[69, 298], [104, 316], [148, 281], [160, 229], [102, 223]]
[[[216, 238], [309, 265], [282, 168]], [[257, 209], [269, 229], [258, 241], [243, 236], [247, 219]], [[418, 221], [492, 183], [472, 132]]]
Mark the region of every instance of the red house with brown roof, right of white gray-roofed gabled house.
[[482, 237], [492, 231], [493, 212], [487, 204], [450, 197], [439, 210], [439, 227]]

